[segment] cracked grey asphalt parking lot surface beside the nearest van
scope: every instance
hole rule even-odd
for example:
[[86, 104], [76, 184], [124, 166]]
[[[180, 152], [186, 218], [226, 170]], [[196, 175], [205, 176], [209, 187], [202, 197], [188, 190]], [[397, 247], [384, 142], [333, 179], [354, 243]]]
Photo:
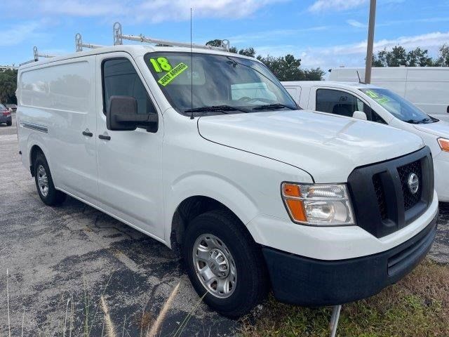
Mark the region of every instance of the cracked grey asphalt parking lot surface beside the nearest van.
[[[179, 260], [163, 244], [73, 198], [45, 206], [20, 162], [15, 133], [14, 119], [11, 127], [0, 125], [0, 336], [8, 334], [8, 300], [12, 336], [20, 336], [22, 317], [24, 336], [62, 336], [69, 299], [72, 336], [86, 329], [101, 336], [102, 294], [120, 335], [139, 336], [144, 308], [144, 322], [152, 322], [180, 282], [161, 336], [176, 331], [199, 303]], [[449, 206], [441, 204], [434, 260], [449, 263], [448, 242]], [[233, 336], [236, 324], [199, 303], [181, 336]]]

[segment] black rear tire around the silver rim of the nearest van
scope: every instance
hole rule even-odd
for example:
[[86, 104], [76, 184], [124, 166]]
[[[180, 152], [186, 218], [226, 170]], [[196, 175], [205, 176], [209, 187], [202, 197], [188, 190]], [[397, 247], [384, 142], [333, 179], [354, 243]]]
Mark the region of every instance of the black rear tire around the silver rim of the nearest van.
[[[43, 155], [42, 152], [39, 152], [36, 155], [36, 160], [34, 161], [34, 181], [36, 182], [36, 189], [39, 197], [44, 204], [48, 206], [56, 206], [61, 204], [65, 198], [67, 197], [64, 192], [58, 191], [55, 189], [55, 185], [53, 184], [53, 179], [51, 178], [50, 168], [48, 167], [47, 159]], [[43, 168], [46, 173], [48, 187], [47, 190], [42, 191], [41, 187], [39, 187], [39, 177], [41, 177], [41, 172], [39, 170]], [[45, 194], [43, 192], [46, 192]]]

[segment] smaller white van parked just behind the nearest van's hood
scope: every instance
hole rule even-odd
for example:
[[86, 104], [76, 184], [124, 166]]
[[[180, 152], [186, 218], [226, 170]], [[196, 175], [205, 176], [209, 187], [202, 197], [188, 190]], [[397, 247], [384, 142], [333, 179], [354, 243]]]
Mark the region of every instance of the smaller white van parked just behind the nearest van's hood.
[[335, 81], [282, 82], [304, 109], [388, 124], [420, 136], [434, 157], [435, 188], [449, 201], [449, 123], [424, 114], [408, 100], [372, 84]]

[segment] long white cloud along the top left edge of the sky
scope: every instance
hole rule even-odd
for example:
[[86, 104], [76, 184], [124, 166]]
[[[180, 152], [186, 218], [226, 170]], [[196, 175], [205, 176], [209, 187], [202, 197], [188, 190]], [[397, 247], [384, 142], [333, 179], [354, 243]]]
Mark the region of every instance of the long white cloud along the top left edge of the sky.
[[[25, 0], [4, 0], [10, 13], [114, 17], [135, 21], [188, 20], [190, 8], [196, 18], [243, 18], [270, 4], [290, 0], [40, 0], [29, 6]], [[11, 12], [12, 11], [12, 12]]]

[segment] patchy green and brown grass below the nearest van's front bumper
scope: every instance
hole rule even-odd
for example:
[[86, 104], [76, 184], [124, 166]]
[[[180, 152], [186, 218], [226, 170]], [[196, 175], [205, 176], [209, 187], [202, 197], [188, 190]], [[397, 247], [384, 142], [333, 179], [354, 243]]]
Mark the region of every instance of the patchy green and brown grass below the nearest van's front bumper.
[[[331, 308], [301, 308], [270, 297], [243, 337], [329, 336]], [[343, 305], [337, 336], [449, 336], [449, 267], [424, 261], [398, 284]]]

